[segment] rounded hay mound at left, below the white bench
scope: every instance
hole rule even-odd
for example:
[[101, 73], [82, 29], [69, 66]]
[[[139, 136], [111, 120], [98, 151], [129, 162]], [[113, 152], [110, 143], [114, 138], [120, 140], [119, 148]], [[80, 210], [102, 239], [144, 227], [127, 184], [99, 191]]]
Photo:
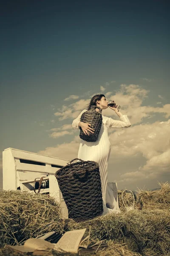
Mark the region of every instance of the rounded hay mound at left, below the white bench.
[[63, 231], [59, 205], [48, 195], [0, 191], [0, 247], [31, 237]]

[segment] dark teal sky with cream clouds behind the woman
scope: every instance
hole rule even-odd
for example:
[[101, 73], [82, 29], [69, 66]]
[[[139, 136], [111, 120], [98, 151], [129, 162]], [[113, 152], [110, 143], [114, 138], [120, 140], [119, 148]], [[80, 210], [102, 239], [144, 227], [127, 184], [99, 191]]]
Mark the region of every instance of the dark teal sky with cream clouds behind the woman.
[[168, 1], [3, 1], [0, 14], [1, 188], [6, 148], [76, 158], [72, 121], [98, 93], [132, 124], [108, 130], [108, 181], [170, 180]]

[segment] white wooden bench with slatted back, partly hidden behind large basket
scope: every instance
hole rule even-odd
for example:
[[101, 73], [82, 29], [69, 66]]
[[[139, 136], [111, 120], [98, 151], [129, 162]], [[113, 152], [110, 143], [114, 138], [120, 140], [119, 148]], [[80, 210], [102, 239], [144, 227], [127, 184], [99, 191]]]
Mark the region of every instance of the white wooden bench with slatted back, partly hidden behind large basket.
[[45, 180], [49, 180], [49, 188], [41, 189], [40, 193], [49, 193], [54, 197], [62, 208], [63, 217], [68, 218], [68, 210], [54, 176], [55, 172], [67, 163], [68, 160], [57, 157], [6, 148], [3, 151], [3, 189], [20, 189], [22, 192], [34, 193], [35, 178], [45, 177]]

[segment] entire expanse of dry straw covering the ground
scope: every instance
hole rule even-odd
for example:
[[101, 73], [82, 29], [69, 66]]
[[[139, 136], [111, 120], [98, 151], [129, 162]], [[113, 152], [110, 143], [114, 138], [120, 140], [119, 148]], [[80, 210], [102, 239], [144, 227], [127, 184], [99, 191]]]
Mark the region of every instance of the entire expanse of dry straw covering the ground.
[[[59, 206], [47, 195], [22, 192], [0, 192], [0, 256], [21, 255], [3, 248], [5, 244], [19, 244], [30, 237], [57, 230], [91, 226], [90, 242], [106, 240], [108, 248], [89, 255], [100, 256], [161, 256], [170, 255], [170, 183], [159, 183], [155, 191], [136, 192], [135, 209], [127, 212], [118, 192], [120, 214], [104, 215], [90, 221], [71, 220], [64, 226]], [[132, 194], [126, 193], [124, 203], [133, 204]], [[28, 254], [27, 254], [28, 255]], [[30, 254], [29, 254], [30, 255]], [[57, 253], [52, 255], [75, 255]], [[87, 255], [87, 254], [86, 254]]]

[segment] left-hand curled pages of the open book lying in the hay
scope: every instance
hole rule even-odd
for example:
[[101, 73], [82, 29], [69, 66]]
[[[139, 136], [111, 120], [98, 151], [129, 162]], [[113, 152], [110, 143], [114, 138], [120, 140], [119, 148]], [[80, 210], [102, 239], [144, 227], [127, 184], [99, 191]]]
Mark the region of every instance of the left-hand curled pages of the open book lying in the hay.
[[6, 245], [8, 248], [12, 250], [16, 250], [17, 252], [22, 253], [32, 253], [34, 250], [49, 250], [54, 247], [54, 244], [51, 244], [48, 241], [44, 241], [38, 238], [30, 238], [26, 240], [24, 245], [13, 246], [13, 245]]

